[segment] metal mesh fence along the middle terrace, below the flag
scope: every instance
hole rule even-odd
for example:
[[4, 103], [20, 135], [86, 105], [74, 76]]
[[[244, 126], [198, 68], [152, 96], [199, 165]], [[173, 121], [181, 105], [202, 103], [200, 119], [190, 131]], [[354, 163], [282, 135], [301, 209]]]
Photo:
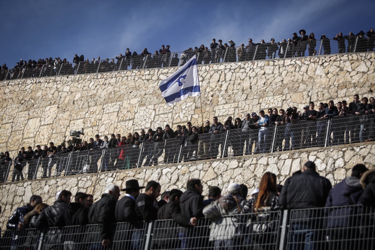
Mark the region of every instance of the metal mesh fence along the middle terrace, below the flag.
[[[75, 151], [24, 160], [21, 168], [1, 166], [0, 181], [54, 177], [97, 171], [139, 168], [228, 156], [327, 147], [375, 139], [375, 114], [360, 113], [266, 127], [223, 130], [196, 136], [123, 145], [111, 149]], [[10, 177], [10, 172], [12, 172]], [[0, 176], [0, 177], [1, 177]], [[9, 180], [10, 179], [10, 180]]]

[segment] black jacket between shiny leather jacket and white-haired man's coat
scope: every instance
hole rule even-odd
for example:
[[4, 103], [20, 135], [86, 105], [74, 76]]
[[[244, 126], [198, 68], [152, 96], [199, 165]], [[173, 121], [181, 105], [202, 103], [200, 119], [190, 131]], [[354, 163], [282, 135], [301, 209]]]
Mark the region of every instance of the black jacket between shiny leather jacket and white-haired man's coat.
[[66, 210], [60, 214], [55, 226], [87, 225], [89, 223], [89, 209], [78, 202], [72, 202]]

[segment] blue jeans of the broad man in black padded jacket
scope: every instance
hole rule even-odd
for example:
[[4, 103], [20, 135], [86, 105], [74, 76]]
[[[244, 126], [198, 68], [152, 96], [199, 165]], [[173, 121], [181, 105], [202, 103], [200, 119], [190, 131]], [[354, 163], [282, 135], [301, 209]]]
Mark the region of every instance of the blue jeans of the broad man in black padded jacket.
[[292, 249], [302, 250], [305, 244], [305, 250], [315, 250], [314, 231], [305, 224], [292, 225]]

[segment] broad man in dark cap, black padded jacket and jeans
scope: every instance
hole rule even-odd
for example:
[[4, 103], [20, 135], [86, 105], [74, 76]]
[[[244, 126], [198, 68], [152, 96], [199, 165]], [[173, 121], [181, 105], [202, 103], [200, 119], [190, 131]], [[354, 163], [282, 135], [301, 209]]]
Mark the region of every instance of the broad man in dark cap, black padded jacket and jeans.
[[306, 162], [301, 174], [293, 175], [285, 181], [279, 196], [282, 210], [298, 209], [291, 215], [291, 220], [296, 222], [291, 225], [291, 230], [294, 231], [293, 249], [302, 249], [296, 241], [299, 244], [304, 242], [305, 249], [316, 249], [311, 210], [303, 209], [324, 207], [332, 184], [327, 178], [320, 176], [315, 168], [314, 162]]

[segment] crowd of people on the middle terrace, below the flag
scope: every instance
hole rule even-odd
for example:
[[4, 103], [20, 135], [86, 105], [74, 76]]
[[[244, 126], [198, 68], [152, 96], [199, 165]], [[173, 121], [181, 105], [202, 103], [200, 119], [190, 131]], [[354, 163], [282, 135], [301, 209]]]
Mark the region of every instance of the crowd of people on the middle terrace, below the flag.
[[[362, 100], [362, 102], [360, 101]], [[330, 121], [329, 137], [326, 142], [327, 122]], [[163, 163], [177, 163], [198, 160], [214, 159], [219, 156], [228, 156], [228, 147], [231, 147], [233, 156], [243, 154], [259, 154], [273, 151], [287, 151], [307, 147], [323, 147], [353, 142], [371, 141], [375, 138], [375, 98], [353, 96], [353, 102], [347, 104], [345, 100], [336, 105], [333, 100], [329, 103], [319, 103], [315, 110], [315, 103], [309, 102], [303, 112], [296, 107], [284, 109], [269, 108], [267, 114], [261, 110], [245, 115], [241, 120], [237, 117], [234, 122], [229, 116], [224, 124], [217, 117], [213, 123], [206, 120], [204, 126], [193, 126], [189, 121], [186, 126], [177, 125], [176, 130], [166, 124], [165, 128], [156, 130], [145, 129], [128, 133], [126, 136], [111, 134], [111, 137], [100, 135], [90, 138], [89, 142], [81, 144], [58, 145], [53, 142], [36, 146], [21, 147], [18, 155], [13, 159], [12, 181], [24, 180], [23, 169], [28, 164], [27, 178], [34, 179], [37, 163], [42, 166], [42, 178], [51, 177], [51, 170], [56, 165], [55, 176], [60, 176], [65, 169], [64, 162], [58, 162], [61, 157], [71, 152], [87, 152], [87, 159], [75, 162], [72, 168], [65, 169], [65, 175], [96, 172], [98, 162], [102, 157], [104, 167], [101, 171], [126, 169], [136, 166], [151, 166], [159, 164], [159, 157]], [[276, 133], [274, 133], [276, 129]], [[228, 131], [229, 130], [229, 131]], [[226, 131], [228, 142], [224, 145]], [[273, 136], [275, 134], [275, 139]], [[143, 145], [143, 147], [141, 147]], [[102, 154], [103, 149], [108, 152]], [[138, 164], [139, 162], [139, 164]], [[144, 163], [143, 163], [144, 162]], [[6, 181], [6, 172], [12, 159], [9, 152], [0, 153], [0, 182]], [[69, 173], [68, 173], [68, 172]]]

